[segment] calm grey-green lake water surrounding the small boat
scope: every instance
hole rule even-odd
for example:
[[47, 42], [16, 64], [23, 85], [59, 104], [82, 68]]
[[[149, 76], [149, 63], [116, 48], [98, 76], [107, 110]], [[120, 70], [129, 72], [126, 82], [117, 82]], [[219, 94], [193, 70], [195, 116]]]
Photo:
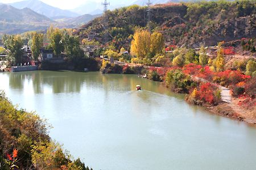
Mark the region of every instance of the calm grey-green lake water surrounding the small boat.
[[47, 118], [51, 138], [94, 170], [255, 169], [254, 125], [189, 105], [159, 82], [64, 70], [0, 80], [13, 104]]

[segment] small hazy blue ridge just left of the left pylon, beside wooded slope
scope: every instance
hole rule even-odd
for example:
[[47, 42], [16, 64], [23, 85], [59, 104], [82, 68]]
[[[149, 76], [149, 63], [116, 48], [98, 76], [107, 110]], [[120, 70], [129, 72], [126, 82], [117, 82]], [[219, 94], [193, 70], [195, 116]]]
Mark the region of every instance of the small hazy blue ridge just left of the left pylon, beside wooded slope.
[[71, 19], [66, 19], [63, 20], [64, 23], [67, 24], [86, 24], [88, 23], [90, 20], [93, 20], [94, 18], [97, 18], [99, 16], [101, 16], [102, 14], [97, 14], [97, 15], [90, 15], [90, 14], [84, 14], [81, 16], [77, 16], [76, 18], [71, 18]]

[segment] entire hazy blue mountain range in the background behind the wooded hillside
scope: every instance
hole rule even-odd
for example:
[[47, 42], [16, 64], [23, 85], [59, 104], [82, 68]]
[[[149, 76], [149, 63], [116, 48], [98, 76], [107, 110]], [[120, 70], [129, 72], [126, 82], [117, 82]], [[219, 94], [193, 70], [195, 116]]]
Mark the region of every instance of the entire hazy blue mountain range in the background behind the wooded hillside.
[[[102, 0], [103, 2], [104, 0]], [[172, 0], [179, 1], [179, 0]], [[26, 0], [14, 3], [0, 3], [0, 33], [22, 33], [46, 29], [49, 25], [74, 28], [86, 24], [103, 13], [102, 2], [85, 0], [85, 3], [71, 10], [62, 10], [47, 5], [39, 0]], [[129, 5], [146, 5], [147, 0], [109, 0], [109, 10]], [[156, 3], [167, 3], [168, 0], [151, 0]]]

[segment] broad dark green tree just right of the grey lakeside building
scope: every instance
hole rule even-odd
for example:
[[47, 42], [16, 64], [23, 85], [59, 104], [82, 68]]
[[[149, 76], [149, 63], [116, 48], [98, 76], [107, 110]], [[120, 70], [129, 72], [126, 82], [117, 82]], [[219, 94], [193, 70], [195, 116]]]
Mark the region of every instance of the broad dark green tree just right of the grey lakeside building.
[[69, 36], [65, 33], [63, 37], [64, 51], [72, 61], [76, 58], [84, 57], [84, 50], [80, 48], [80, 39], [78, 36]]

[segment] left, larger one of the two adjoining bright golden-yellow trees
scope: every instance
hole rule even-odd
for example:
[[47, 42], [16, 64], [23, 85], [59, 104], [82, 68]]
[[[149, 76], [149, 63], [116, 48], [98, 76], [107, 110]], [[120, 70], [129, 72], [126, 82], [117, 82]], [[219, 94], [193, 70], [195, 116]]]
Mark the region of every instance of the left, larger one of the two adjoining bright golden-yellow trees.
[[150, 32], [137, 29], [131, 41], [131, 54], [143, 59], [150, 52]]

